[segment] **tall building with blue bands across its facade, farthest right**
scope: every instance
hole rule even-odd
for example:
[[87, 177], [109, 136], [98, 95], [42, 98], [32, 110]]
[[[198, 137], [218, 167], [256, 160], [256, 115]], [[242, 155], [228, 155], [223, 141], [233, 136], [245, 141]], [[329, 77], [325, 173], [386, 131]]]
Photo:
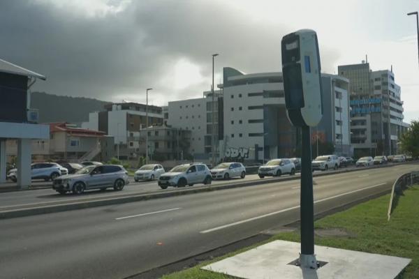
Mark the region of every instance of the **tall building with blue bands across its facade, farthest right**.
[[399, 152], [404, 123], [400, 86], [392, 70], [373, 71], [369, 63], [338, 66], [350, 81], [351, 143], [354, 156], [392, 155]]

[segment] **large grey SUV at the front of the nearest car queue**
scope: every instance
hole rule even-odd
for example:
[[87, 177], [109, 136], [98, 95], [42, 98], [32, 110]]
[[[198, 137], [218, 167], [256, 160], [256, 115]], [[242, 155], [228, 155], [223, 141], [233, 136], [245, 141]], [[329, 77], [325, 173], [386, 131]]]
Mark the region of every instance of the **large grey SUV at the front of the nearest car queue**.
[[83, 167], [75, 174], [54, 179], [52, 189], [60, 194], [73, 192], [82, 194], [84, 190], [114, 188], [122, 190], [129, 183], [128, 172], [120, 165], [91, 165]]

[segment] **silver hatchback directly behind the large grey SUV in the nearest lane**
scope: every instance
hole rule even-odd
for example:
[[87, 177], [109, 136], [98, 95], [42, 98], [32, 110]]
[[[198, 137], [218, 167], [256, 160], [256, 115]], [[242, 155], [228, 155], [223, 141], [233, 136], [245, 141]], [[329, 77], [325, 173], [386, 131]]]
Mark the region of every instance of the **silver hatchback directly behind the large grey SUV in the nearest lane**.
[[202, 163], [191, 163], [177, 165], [170, 169], [170, 172], [162, 174], [159, 179], [159, 186], [162, 189], [172, 187], [184, 187], [186, 185], [193, 186], [193, 184], [203, 183], [205, 185], [211, 184], [212, 176], [207, 165]]

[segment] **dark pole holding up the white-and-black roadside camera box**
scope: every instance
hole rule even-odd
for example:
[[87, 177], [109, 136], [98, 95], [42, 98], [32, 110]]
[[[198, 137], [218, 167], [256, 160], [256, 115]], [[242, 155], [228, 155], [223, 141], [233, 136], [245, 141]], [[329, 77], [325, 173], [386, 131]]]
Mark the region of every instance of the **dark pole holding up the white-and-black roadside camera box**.
[[311, 171], [311, 139], [310, 127], [302, 126], [302, 154], [301, 154], [301, 255], [300, 264], [304, 267], [317, 269], [314, 255], [314, 198], [313, 174]]

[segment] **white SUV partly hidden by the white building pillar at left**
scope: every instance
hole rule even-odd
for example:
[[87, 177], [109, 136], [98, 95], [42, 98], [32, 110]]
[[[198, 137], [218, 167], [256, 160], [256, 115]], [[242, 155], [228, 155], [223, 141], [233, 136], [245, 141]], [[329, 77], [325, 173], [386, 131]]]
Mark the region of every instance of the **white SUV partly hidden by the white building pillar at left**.
[[[57, 163], [34, 163], [31, 165], [31, 179], [54, 180], [58, 176], [68, 174], [68, 169]], [[10, 169], [7, 179], [17, 181], [17, 169]]]

